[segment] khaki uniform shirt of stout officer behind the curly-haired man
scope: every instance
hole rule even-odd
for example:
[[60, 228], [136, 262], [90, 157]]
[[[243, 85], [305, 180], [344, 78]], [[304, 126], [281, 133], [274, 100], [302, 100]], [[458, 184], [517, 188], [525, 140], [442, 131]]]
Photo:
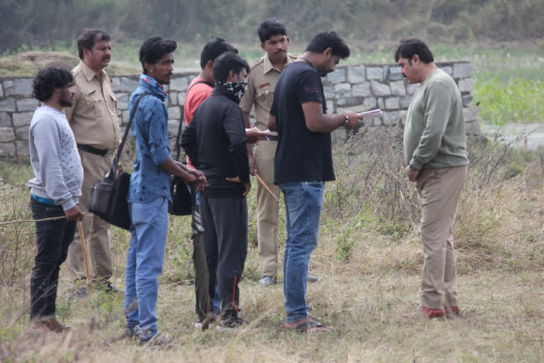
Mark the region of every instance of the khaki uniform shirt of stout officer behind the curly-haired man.
[[113, 150], [120, 144], [117, 99], [111, 77], [105, 70], [96, 74], [80, 61], [72, 69], [76, 82], [74, 103], [64, 108], [76, 143], [101, 150]]

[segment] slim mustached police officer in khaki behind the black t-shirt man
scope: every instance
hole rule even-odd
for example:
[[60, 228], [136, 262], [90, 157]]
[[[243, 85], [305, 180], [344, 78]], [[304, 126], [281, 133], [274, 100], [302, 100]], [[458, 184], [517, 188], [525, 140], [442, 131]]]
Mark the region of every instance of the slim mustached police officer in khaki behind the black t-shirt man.
[[[257, 30], [261, 49], [266, 54], [251, 64], [247, 79], [247, 89], [240, 102], [244, 112], [246, 128], [250, 127], [249, 112], [255, 105], [255, 126], [259, 130], [268, 128], [268, 113], [274, 96], [274, 86], [283, 68], [296, 59], [288, 54], [289, 38], [285, 24], [278, 18], [270, 18], [261, 23]], [[277, 197], [280, 189], [274, 181], [274, 155], [276, 153], [277, 133], [271, 133], [269, 141], [261, 140], [255, 148], [255, 155], [248, 145], [248, 158], [251, 174], [259, 173]], [[278, 202], [257, 184], [257, 233], [259, 240], [259, 265], [261, 280], [259, 284], [276, 284], [278, 274]]]

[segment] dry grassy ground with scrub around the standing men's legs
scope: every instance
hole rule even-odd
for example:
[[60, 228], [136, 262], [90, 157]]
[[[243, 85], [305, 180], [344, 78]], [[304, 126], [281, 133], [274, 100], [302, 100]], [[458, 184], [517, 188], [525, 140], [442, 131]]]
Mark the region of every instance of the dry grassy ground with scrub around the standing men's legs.
[[[379, 140], [380, 142], [376, 141]], [[307, 301], [334, 326], [327, 334], [285, 332], [282, 285], [257, 284], [255, 196], [249, 199], [250, 248], [241, 284], [249, 328], [193, 328], [194, 293], [188, 218], [171, 218], [159, 289], [159, 329], [171, 350], [113, 341], [123, 332], [123, 301], [93, 291], [69, 303], [61, 272], [57, 310], [74, 327], [39, 335], [28, 326], [33, 225], [0, 230], [0, 358], [38, 362], [542, 362], [544, 360], [544, 169], [540, 152], [474, 144], [453, 233], [463, 318], [414, 314], [423, 253], [419, 211], [405, 181], [395, 128], [351, 138], [336, 150], [320, 244], [312, 257]], [[372, 170], [373, 172], [368, 172]], [[2, 169], [0, 169], [0, 173]], [[0, 184], [0, 221], [28, 218], [28, 192]], [[281, 221], [283, 223], [283, 220]], [[280, 227], [280, 244], [285, 231]], [[16, 247], [18, 246], [18, 247]], [[123, 285], [128, 233], [113, 230], [114, 282]], [[15, 256], [18, 249], [17, 257]], [[280, 247], [281, 250], [281, 247]], [[280, 267], [281, 268], [281, 267]], [[280, 279], [282, 276], [280, 276]]]

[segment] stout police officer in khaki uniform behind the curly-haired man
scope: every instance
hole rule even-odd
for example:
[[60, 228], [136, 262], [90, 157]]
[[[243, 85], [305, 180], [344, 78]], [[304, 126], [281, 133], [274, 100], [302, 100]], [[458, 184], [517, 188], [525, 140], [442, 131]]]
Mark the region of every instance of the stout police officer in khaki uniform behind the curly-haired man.
[[[89, 214], [87, 202], [91, 187], [111, 168], [120, 143], [120, 131], [111, 77], [103, 69], [111, 60], [110, 35], [102, 30], [86, 29], [77, 41], [77, 48], [81, 61], [72, 69], [76, 94], [74, 103], [64, 112], [74, 132], [84, 169], [79, 208]], [[119, 292], [109, 281], [112, 276], [109, 224], [98, 216], [87, 216], [83, 219], [83, 230], [91, 279], [96, 284], [104, 284], [106, 291]], [[68, 251], [67, 266], [79, 279], [86, 277], [82, 264], [77, 233]], [[84, 298], [87, 294], [88, 291], [81, 288], [72, 296]]]

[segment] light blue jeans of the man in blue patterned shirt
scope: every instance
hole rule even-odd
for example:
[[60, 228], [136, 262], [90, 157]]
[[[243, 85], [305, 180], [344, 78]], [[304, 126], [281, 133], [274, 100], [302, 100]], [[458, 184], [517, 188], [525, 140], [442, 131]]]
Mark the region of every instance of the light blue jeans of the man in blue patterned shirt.
[[157, 292], [168, 231], [168, 201], [129, 203], [130, 247], [125, 271], [127, 328], [142, 340], [157, 334]]

